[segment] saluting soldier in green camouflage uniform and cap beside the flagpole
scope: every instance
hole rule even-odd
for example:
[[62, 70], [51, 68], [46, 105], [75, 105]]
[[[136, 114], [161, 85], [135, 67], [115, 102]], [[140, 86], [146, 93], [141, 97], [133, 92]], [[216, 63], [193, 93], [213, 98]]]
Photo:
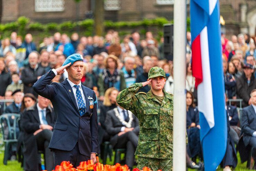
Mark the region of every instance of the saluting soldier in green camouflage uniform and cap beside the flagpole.
[[[147, 166], [154, 171], [172, 170], [173, 95], [164, 91], [165, 81], [164, 70], [153, 67], [148, 72], [147, 82], [132, 84], [117, 96], [117, 103], [139, 119], [139, 142], [135, 152], [139, 169]], [[148, 84], [151, 86], [148, 93], [137, 93]]]

